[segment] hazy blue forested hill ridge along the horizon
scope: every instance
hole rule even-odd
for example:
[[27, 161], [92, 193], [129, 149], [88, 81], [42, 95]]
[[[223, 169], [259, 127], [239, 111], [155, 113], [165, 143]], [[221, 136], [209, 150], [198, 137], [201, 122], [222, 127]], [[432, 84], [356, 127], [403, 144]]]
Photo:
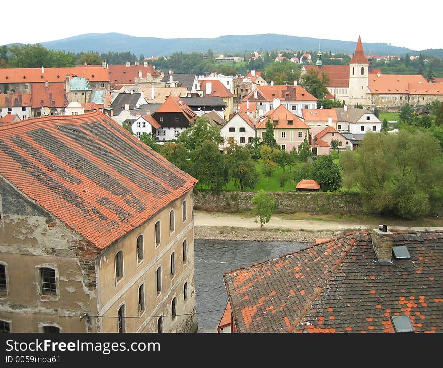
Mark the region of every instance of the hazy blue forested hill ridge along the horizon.
[[[134, 37], [121, 33], [90, 33], [62, 40], [43, 42], [44, 47], [66, 52], [98, 53], [125, 52], [129, 51], [135, 55], [144, 54], [150, 56], [169, 56], [174, 52], [206, 52], [209, 49], [214, 52], [242, 53], [258, 50], [317, 50], [320, 44], [322, 51], [334, 53], [353, 53], [358, 35], [355, 41], [338, 41], [308, 37], [286, 36], [278, 34], [257, 34], [250, 36], [222, 36], [217, 38], [153, 38]], [[418, 54], [420, 51], [404, 47], [391, 46], [386, 43], [364, 43], [366, 52], [371, 50], [372, 54], [387, 55]], [[430, 55], [439, 52], [440, 57], [443, 50], [429, 50]]]

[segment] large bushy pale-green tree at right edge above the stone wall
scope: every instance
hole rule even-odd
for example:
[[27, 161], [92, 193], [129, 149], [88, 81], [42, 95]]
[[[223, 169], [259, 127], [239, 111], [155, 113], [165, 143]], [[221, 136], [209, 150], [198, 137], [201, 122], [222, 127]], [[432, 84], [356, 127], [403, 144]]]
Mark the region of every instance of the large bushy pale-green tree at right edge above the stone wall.
[[442, 150], [430, 132], [367, 133], [340, 164], [344, 185], [359, 189], [367, 211], [412, 219], [443, 204]]

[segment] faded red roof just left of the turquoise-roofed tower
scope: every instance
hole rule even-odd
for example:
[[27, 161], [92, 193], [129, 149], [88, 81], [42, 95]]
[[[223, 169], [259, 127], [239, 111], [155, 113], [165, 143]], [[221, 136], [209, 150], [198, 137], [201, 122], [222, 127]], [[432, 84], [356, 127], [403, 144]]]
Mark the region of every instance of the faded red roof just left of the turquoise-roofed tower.
[[[31, 88], [32, 107], [66, 107], [66, 89], [64, 83], [33, 83]], [[43, 102], [42, 102], [43, 101]]]

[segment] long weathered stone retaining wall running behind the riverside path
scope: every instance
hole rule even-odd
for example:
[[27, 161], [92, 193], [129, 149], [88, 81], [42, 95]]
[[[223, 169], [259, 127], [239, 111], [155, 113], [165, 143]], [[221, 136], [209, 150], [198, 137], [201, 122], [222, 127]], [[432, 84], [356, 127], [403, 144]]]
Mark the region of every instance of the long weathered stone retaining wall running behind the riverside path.
[[[252, 197], [256, 192], [199, 190], [194, 194], [194, 209], [210, 212], [240, 212], [251, 210]], [[278, 192], [274, 193], [277, 213], [362, 213], [358, 195], [321, 192]]]

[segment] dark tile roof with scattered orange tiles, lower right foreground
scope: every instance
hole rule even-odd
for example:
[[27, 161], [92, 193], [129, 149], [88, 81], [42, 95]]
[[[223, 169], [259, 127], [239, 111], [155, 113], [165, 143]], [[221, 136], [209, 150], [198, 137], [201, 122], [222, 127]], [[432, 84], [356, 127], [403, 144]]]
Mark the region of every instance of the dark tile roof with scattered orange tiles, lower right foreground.
[[[379, 264], [372, 234], [353, 232], [225, 273], [239, 332], [443, 332], [443, 230], [394, 232], [413, 262]], [[397, 263], [399, 262], [399, 263]]]

